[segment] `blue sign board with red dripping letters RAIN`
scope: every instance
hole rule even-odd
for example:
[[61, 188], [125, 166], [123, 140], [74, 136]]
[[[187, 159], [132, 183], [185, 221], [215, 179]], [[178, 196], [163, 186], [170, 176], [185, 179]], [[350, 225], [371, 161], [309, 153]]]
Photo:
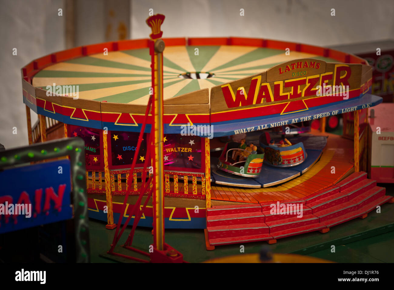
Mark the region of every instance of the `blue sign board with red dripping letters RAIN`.
[[0, 171], [0, 234], [72, 218], [70, 161]]

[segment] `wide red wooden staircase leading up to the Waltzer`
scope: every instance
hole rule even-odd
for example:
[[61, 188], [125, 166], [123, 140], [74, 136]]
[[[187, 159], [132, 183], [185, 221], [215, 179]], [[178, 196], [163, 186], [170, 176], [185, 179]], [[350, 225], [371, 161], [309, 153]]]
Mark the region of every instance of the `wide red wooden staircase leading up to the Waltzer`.
[[[276, 239], [316, 230], [328, 232], [332, 226], [366, 217], [376, 206], [392, 203], [394, 198], [385, 193], [384, 187], [367, 179], [366, 172], [356, 172], [336, 185], [297, 200], [214, 206], [207, 209], [206, 247], [253, 241], [275, 243]], [[271, 204], [283, 208], [280, 214], [270, 212]]]

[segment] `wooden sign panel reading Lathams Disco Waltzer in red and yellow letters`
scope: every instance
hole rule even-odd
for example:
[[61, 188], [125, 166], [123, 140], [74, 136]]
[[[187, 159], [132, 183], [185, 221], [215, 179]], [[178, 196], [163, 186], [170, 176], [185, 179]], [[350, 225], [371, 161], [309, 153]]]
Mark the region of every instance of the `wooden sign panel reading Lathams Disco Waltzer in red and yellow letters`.
[[213, 87], [211, 113], [286, 103], [286, 108], [268, 110], [267, 115], [288, 114], [308, 110], [305, 99], [319, 98], [310, 103], [314, 107], [358, 97], [363, 66], [367, 65], [312, 58], [286, 62], [264, 73]]

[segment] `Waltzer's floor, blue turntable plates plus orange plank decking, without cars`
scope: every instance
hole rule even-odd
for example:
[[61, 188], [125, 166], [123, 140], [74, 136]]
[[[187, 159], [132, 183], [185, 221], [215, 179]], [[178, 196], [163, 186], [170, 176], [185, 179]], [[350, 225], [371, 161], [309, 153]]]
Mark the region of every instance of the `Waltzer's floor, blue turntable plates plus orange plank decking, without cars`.
[[[352, 140], [330, 133], [320, 133], [317, 130], [313, 130], [312, 133], [315, 136], [327, 136], [327, 145], [322, 144], [321, 141], [319, 143], [320, 145], [312, 142], [316, 149], [309, 149], [312, 145], [310, 145], [311, 147], [305, 145], [308, 158], [304, 163], [289, 168], [263, 166], [264, 171], [261, 172], [258, 178], [251, 181], [250, 178], [248, 180], [232, 181], [228, 178], [230, 180], [229, 182], [234, 182], [232, 187], [212, 186], [212, 205], [228, 204], [215, 201], [261, 203], [303, 198], [304, 196], [326, 189], [353, 173]], [[298, 138], [301, 139], [301, 137]], [[218, 178], [215, 173], [212, 176], [216, 183], [219, 178], [223, 180], [222, 177]], [[263, 178], [264, 181], [262, 181]], [[237, 183], [241, 182], [253, 182], [256, 187], [260, 188], [234, 187], [239, 187]], [[282, 184], [273, 187], [264, 187], [264, 185], [269, 185], [269, 183]]]

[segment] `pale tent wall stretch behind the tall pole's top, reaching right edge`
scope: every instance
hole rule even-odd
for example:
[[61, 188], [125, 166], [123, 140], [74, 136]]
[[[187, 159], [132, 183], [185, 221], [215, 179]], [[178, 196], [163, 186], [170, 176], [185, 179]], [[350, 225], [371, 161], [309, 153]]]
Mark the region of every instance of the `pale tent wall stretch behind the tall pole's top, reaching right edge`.
[[132, 0], [132, 38], [147, 37], [150, 8], [166, 17], [163, 37], [257, 37], [327, 47], [394, 37], [392, 0]]

